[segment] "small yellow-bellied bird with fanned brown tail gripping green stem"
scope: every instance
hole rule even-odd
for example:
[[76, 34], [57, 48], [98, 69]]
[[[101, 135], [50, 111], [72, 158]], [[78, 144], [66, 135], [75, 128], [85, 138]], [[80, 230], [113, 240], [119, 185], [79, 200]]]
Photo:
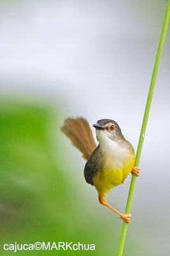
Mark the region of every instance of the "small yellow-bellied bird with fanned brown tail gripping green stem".
[[119, 125], [114, 120], [101, 119], [93, 127], [96, 129], [99, 145], [96, 145], [92, 129], [85, 118], [66, 118], [61, 131], [87, 161], [84, 177], [88, 184], [96, 188], [100, 204], [118, 214], [123, 221], [131, 223], [132, 214], [117, 211], [108, 204], [106, 195], [111, 189], [124, 184], [129, 173], [139, 177], [140, 169], [134, 166], [134, 148], [125, 140]]

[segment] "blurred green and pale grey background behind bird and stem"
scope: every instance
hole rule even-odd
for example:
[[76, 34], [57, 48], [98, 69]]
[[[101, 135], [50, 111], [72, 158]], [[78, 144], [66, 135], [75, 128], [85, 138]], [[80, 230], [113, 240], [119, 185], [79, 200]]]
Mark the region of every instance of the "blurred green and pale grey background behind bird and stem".
[[[0, 255], [117, 255], [122, 221], [99, 204], [60, 126], [111, 118], [136, 150], [166, 3], [0, 1]], [[124, 256], [170, 255], [169, 43], [168, 28]], [[130, 180], [108, 196], [122, 212]], [[15, 241], [96, 251], [3, 250]]]

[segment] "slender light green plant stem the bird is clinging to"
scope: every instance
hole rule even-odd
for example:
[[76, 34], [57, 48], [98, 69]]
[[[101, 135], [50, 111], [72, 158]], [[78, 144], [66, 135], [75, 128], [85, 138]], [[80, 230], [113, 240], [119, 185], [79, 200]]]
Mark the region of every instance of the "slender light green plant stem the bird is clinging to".
[[[163, 47], [164, 47], [164, 41], [165, 41], [165, 38], [166, 38], [167, 26], [168, 26], [168, 23], [169, 23], [169, 16], [170, 16], [170, 0], [167, 1], [166, 14], [165, 14], [165, 17], [164, 17], [164, 24], [162, 26], [162, 31], [161, 31], [161, 34], [160, 34], [160, 41], [159, 41], [159, 46], [158, 46], [158, 50], [157, 50], [157, 56], [156, 56], [156, 59], [155, 59], [155, 65], [154, 65], [154, 68], [153, 68], [152, 79], [151, 79], [151, 83], [150, 83], [150, 90], [148, 92], [148, 99], [147, 99], [147, 102], [146, 102], [145, 113], [144, 113], [144, 116], [143, 116], [143, 124], [142, 124], [142, 127], [141, 127], [141, 133], [140, 133], [140, 137], [139, 137], [138, 150], [137, 150], [137, 153], [136, 153], [136, 161], [135, 161], [135, 164], [134, 164], [135, 166], [139, 166], [139, 161], [140, 161], [140, 158], [141, 158], [141, 151], [142, 151], [142, 147], [143, 147], [143, 141], [144, 141], [144, 138], [145, 138], [146, 125], [147, 125], [148, 116], [149, 116], [149, 113], [150, 113], [150, 106], [151, 106], [151, 103], [152, 103], [153, 91], [154, 91], [154, 88], [155, 88], [155, 81], [157, 79], [157, 73], [158, 73], [160, 58], [161, 58], [161, 55], [162, 55], [162, 50], [163, 50]], [[131, 212], [132, 197], [134, 195], [135, 184], [136, 184], [136, 176], [132, 175], [131, 186], [129, 188], [129, 195], [128, 195], [128, 198], [127, 198], [127, 205], [126, 205], [126, 209], [125, 209], [126, 214], [129, 214]], [[125, 237], [126, 237], [126, 233], [127, 233], [127, 225], [128, 224], [124, 221], [117, 256], [122, 256], [123, 251], [124, 251]]]

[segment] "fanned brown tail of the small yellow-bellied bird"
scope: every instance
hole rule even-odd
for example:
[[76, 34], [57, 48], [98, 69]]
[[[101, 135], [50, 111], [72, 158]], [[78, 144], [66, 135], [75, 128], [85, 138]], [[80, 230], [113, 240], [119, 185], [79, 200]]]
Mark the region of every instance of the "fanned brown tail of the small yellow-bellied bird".
[[74, 147], [81, 151], [83, 157], [89, 159], [97, 146], [87, 120], [81, 117], [67, 118], [61, 131], [71, 140]]

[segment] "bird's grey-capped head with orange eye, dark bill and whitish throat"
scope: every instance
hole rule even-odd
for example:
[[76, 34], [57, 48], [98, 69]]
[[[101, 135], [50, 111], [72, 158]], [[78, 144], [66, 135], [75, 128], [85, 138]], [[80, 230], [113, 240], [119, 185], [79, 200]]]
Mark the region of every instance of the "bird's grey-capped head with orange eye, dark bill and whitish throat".
[[102, 143], [103, 140], [106, 140], [106, 138], [109, 138], [115, 142], [121, 142], [125, 140], [117, 122], [111, 119], [98, 120], [97, 123], [93, 126], [96, 128], [96, 136], [99, 143]]

